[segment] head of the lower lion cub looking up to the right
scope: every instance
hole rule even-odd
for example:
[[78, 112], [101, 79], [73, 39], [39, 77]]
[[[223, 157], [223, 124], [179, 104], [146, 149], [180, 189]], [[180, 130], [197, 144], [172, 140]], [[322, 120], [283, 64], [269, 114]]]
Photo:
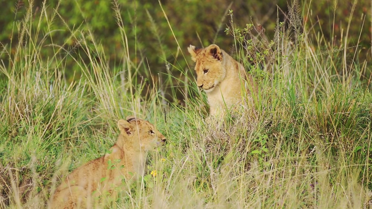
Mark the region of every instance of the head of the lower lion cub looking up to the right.
[[150, 151], [164, 144], [166, 138], [147, 120], [128, 116], [118, 121], [120, 136], [116, 144], [135, 150]]

